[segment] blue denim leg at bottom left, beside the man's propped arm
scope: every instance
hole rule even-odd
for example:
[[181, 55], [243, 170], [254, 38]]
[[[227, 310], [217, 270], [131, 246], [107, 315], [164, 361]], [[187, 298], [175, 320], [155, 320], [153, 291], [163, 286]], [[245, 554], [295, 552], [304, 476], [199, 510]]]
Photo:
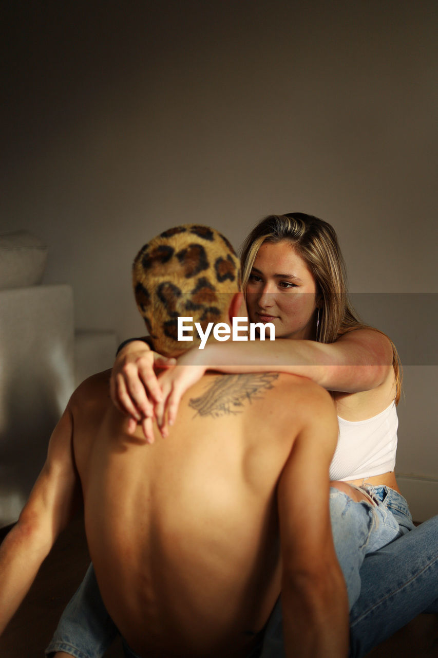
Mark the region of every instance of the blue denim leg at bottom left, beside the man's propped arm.
[[103, 605], [93, 565], [89, 565], [45, 653], [53, 657], [57, 651], [65, 651], [75, 658], [101, 658], [117, 633]]

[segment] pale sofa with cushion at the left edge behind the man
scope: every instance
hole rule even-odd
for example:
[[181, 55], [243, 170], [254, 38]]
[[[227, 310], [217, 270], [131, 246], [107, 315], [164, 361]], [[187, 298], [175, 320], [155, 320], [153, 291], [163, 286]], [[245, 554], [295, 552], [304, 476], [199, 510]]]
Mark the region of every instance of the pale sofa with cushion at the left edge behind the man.
[[34, 236], [0, 235], [0, 528], [18, 518], [78, 380], [116, 348], [114, 332], [80, 332], [75, 348], [72, 287], [40, 284], [46, 258]]

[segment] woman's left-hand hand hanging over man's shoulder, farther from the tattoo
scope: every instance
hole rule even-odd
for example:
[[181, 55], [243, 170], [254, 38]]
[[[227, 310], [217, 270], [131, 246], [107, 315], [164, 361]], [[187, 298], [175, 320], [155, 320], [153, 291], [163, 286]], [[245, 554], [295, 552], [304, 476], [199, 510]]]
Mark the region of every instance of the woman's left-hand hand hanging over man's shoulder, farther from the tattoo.
[[141, 423], [147, 442], [153, 442], [154, 404], [163, 399], [155, 368], [172, 368], [175, 364], [176, 359], [163, 357], [140, 340], [128, 343], [118, 353], [112, 367], [110, 395], [117, 409], [130, 417], [130, 434]]

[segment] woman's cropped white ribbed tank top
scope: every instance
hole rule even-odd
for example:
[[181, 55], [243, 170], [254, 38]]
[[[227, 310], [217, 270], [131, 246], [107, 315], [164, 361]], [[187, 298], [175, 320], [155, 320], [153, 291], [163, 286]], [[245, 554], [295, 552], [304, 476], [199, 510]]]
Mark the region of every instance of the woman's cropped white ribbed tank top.
[[331, 480], [360, 480], [395, 468], [397, 409], [395, 401], [366, 420], [337, 417], [339, 438], [330, 465]]

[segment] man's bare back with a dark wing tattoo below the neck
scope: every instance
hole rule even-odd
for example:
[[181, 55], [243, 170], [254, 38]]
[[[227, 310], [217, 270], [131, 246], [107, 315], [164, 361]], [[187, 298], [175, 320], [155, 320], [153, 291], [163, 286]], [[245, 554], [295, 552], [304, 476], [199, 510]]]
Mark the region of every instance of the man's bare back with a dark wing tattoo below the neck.
[[[328, 394], [289, 375], [207, 374], [170, 436], [157, 432], [149, 446], [140, 428], [126, 432], [108, 379], [86, 380], [70, 412], [89, 551], [112, 619], [141, 655], [248, 655], [281, 590], [278, 505], [293, 518], [316, 449], [328, 470], [337, 436]], [[278, 501], [292, 449], [303, 453], [295, 494], [283, 476]]]

